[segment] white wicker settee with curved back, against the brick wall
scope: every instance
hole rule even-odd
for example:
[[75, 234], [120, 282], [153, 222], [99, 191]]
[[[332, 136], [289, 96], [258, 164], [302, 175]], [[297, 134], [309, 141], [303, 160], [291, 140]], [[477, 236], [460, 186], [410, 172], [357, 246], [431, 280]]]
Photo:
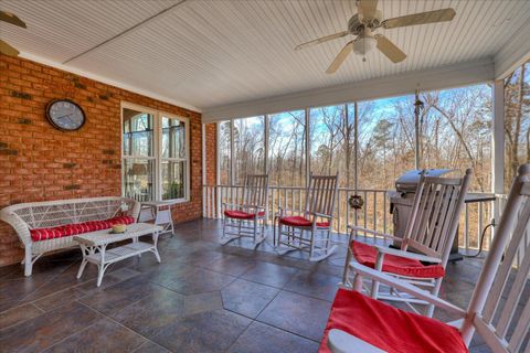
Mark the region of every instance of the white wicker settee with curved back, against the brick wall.
[[22, 242], [25, 256], [24, 276], [31, 276], [33, 264], [43, 254], [77, 246], [73, 236], [35, 242], [31, 229], [50, 228], [89, 221], [105, 221], [119, 213], [137, 220], [140, 204], [131, 199], [108, 196], [20, 203], [0, 211], [0, 220], [10, 224]]

